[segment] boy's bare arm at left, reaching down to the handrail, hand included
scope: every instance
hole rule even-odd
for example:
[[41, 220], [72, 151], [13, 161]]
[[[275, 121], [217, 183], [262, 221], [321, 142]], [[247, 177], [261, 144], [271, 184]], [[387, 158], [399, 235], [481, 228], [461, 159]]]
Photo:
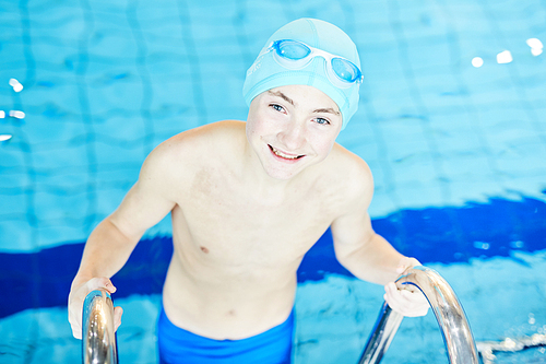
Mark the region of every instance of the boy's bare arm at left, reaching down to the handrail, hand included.
[[[158, 223], [175, 207], [168, 196], [173, 184], [159, 146], [144, 162], [139, 180], [129, 190], [118, 209], [100, 222], [90, 235], [80, 269], [69, 295], [69, 321], [75, 338], [82, 336], [82, 308], [85, 296], [93, 290], [116, 291], [109, 278], [129, 259], [144, 232]], [[116, 328], [121, 322], [122, 310], [115, 309]]]

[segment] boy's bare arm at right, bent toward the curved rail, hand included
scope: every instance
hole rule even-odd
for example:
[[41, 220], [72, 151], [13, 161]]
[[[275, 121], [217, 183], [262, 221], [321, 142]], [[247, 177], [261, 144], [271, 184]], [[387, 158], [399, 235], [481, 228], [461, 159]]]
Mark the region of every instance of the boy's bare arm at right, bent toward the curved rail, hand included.
[[394, 284], [404, 270], [420, 263], [401, 255], [373, 231], [367, 212], [373, 180], [367, 165], [363, 162], [360, 166], [348, 184], [345, 214], [331, 226], [335, 256], [355, 277], [384, 285], [384, 297], [391, 308], [404, 316], [424, 316], [429, 307], [425, 296], [420, 292], [400, 291]]

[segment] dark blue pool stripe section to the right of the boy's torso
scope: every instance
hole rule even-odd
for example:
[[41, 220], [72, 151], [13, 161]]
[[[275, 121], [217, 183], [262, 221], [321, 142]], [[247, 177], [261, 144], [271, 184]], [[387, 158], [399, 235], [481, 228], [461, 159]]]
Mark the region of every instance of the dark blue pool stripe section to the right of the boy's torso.
[[[399, 251], [416, 257], [424, 265], [546, 249], [546, 203], [532, 198], [491, 199], [488, 203], [460, 208], [401, 210], [375, 219], [372, 224]], [[298, 279], [320, 280], [330, 272], [349, 274], [335, 260], [328, 231], [307, 254]]]

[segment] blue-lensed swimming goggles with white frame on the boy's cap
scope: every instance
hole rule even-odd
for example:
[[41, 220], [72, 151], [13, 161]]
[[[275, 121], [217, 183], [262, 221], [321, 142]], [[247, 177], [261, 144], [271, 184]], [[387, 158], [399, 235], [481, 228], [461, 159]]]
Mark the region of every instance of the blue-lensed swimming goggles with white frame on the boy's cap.
[[348, 89], [355, 83], [361, 83], [364, 79], [360, 69], [348, 59], [313, 48], [298, 40], [275, 40], [268, 48], [268, 51], [273, 51], [275, 61], [289, 70], [306, 67], [314, 57], [324, 58], [327, 75], [330, 82], [340, 89]]

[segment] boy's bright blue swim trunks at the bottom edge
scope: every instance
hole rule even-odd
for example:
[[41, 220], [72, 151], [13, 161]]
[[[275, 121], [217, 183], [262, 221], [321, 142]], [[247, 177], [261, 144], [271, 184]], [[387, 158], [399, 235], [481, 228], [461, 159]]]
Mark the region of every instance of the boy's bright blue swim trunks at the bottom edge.
[[157, 331], [161, 364], [289, 364], [294, 313], [254, 337], [213, 340], [175, 326], [162, 307]]

